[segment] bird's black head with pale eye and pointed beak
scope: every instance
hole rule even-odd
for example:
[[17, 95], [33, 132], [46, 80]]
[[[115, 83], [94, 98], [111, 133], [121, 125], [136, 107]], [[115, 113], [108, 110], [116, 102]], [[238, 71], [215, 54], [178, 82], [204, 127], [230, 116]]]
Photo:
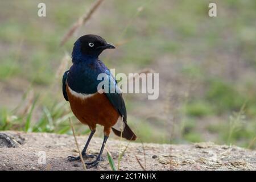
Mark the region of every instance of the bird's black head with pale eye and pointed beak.
[[81, 59], [82, 57], [98, 57], [105, 49], [114, 49], [115, 47], [98, 35], [81, 36], [74, 44], [72, 57]]

